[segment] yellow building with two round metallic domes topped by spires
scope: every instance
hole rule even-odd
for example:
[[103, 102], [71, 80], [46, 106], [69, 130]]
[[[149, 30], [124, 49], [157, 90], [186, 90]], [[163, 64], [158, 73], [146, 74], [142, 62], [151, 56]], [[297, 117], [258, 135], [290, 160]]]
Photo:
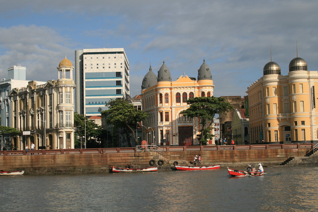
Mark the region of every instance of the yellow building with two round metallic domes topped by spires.
[[263, 77], [247, 88], [250, 143], [317, 141], [318, 73], [307, 69], [297, 55], [283, 76], [271, 61], [264, 66]]

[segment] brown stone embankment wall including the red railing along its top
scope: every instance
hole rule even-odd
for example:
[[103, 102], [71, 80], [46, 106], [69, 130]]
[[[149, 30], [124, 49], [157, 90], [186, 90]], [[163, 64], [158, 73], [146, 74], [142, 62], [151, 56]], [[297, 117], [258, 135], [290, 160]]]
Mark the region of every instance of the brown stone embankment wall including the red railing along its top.
[[[164, 146], [151, 152], [137, 148], [59, 149], [0, 151], [2, 170], [25, 170], [26, 173], [87, 173], [105, 172], [111, 166], [150, 166], [150, 160], [163, 160], [164, 169], [180, 164], [190, 165], [195, 155], [201, 154], [202, 164], [221, 167], [245, 166], [248, 163], [280, 165], [289, 157], [304, 157], [314, 144], [226, 145], [226, 146]], [[32, 154], [31, 154], [32, 153]], [[315, 155], [313, 156], [315, 157]], [[307, 157], [308, 159], [310, 157]], [[310, 162], [310, 165], [315, 163]]]

